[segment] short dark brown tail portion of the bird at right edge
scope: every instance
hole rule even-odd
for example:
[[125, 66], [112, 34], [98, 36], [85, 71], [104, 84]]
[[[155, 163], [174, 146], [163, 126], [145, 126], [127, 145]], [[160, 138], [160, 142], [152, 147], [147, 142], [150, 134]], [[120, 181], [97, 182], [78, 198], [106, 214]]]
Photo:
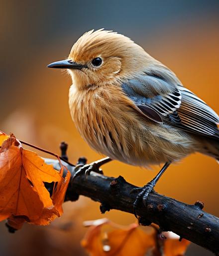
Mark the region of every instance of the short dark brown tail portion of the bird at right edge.
[[219, 140], [212, 138], [205, 138], [202, 140], [203, 148], [201, 153], [214, 157], [219, 163]]

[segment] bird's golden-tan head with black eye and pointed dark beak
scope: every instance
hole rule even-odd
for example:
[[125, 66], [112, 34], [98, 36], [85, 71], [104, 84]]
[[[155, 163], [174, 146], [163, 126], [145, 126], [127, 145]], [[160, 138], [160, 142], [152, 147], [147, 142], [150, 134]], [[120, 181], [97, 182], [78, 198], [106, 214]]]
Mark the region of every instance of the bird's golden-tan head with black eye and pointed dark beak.
[[67, 68], [78, 88], [104, 86], [143, 71], [151, 56], [128, 37], [99, 29], [83, 34], [68, 59], [48, 67]]

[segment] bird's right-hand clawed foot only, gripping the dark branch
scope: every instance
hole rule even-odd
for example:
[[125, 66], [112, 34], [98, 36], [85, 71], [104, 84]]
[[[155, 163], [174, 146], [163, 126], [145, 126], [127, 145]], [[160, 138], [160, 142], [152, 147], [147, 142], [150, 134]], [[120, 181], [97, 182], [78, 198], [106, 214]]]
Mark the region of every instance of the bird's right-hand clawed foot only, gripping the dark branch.
[[151, 191], [153, 190], [155, 186], [155, 182], [152, 180], [150, 182], [148, 182], [146, 185], [144, 185], [144, 187], [141, 187], [141, 188], [135, 188], [131, 191], [131, 193], [133, 192], [139, 192], [135, 201], [134, 201], [134, 204], [133, 204], [133, 212], [134, 212], [134, 216], [137, 218], [137, 214], [136, 214], [136, 209], [139, 205], [139, 203], [142, 201], [144, 206], [146, 205], [146, 200], [149, 196], [149, 194], [151, 193]]

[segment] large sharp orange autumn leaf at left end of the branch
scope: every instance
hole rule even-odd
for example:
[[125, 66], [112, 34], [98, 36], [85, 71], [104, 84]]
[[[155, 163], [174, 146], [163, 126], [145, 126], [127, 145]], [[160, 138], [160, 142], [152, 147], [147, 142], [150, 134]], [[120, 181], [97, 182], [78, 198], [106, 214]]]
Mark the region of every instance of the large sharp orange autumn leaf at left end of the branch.
[[[46, 225], [63, 212], [70, 173], [63, 179], [36, 153], [23, 149], [14, 135], [5, 136], [0, 133], [0, 221], [9, 218], [15, 229], [24, 222]], [[52, 198], [44, 182], [57, 182]]]

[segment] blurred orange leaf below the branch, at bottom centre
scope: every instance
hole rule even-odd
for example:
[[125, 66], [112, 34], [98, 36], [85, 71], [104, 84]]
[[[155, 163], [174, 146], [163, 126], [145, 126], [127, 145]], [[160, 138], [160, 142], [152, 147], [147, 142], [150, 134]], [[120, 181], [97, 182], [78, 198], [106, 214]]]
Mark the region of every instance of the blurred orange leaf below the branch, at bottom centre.
[[154, 236], [139, 229], [137, 224], [103, 233], [103, 225], [115, 226], [105, 220], [100, 225], [92, 226], [81, 242], [91, 256], [144, 256], [145, 252], [155, 247]]

